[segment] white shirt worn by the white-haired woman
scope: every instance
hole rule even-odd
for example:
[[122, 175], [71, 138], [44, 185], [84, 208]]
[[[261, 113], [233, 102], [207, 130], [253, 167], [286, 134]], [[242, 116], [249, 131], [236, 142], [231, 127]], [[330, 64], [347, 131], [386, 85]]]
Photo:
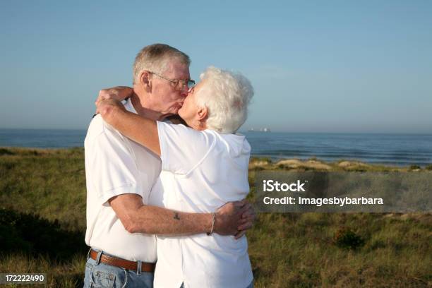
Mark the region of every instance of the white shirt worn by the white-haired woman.
[[[215, 212], [249, 192], [244, 136], [157, 122], [162, 172], [152, 194], [165, 208]], [[163, 193], [162, 193], [163, 191]], [[246, 237], [157, 236], [155, 287], [239, 287], [253, 280]]]

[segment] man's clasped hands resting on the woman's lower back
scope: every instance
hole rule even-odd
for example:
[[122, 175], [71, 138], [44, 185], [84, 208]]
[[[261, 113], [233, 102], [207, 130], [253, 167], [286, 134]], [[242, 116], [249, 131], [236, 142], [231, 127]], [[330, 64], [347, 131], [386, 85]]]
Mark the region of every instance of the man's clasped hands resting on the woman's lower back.
[[216, 211], [215, 233], [234, 235], [239, 239], [246, 229], [250, 229], [255, 220], [255, 211], [246, 200], [229, 202]]

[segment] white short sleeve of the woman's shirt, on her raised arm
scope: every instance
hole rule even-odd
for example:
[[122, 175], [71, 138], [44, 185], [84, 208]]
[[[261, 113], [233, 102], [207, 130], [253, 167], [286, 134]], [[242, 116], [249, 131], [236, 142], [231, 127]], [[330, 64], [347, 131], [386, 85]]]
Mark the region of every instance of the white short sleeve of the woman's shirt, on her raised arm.
[[212, 133], [196, 131], [182, 124], [157, 121], [162, 169], [187, 174], [208, 155], [215, 144]]

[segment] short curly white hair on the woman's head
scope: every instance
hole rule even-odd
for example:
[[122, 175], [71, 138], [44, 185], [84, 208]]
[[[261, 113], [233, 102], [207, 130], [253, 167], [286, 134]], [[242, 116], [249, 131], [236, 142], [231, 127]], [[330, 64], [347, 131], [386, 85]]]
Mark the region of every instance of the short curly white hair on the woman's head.
[[207, 107], [207, 128], [220, 133], [234, 133], [248, 117], [253, 97], [251, 82], [240, 73], [213, 66], [200, 75], [205, 85], [197, 95], [197, 104]]

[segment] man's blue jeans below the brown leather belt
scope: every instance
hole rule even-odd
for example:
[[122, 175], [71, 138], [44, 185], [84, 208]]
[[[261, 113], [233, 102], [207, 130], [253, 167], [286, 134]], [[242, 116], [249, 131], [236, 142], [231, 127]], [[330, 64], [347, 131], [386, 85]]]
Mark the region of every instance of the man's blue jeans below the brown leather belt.
[[154, 276], [155, 273], [152, 272], [126, 270], [104, 263], [97, 263], [96, 260], [88, 258], [87, 263], [85, 263], [84, 288], [152, 288]]

